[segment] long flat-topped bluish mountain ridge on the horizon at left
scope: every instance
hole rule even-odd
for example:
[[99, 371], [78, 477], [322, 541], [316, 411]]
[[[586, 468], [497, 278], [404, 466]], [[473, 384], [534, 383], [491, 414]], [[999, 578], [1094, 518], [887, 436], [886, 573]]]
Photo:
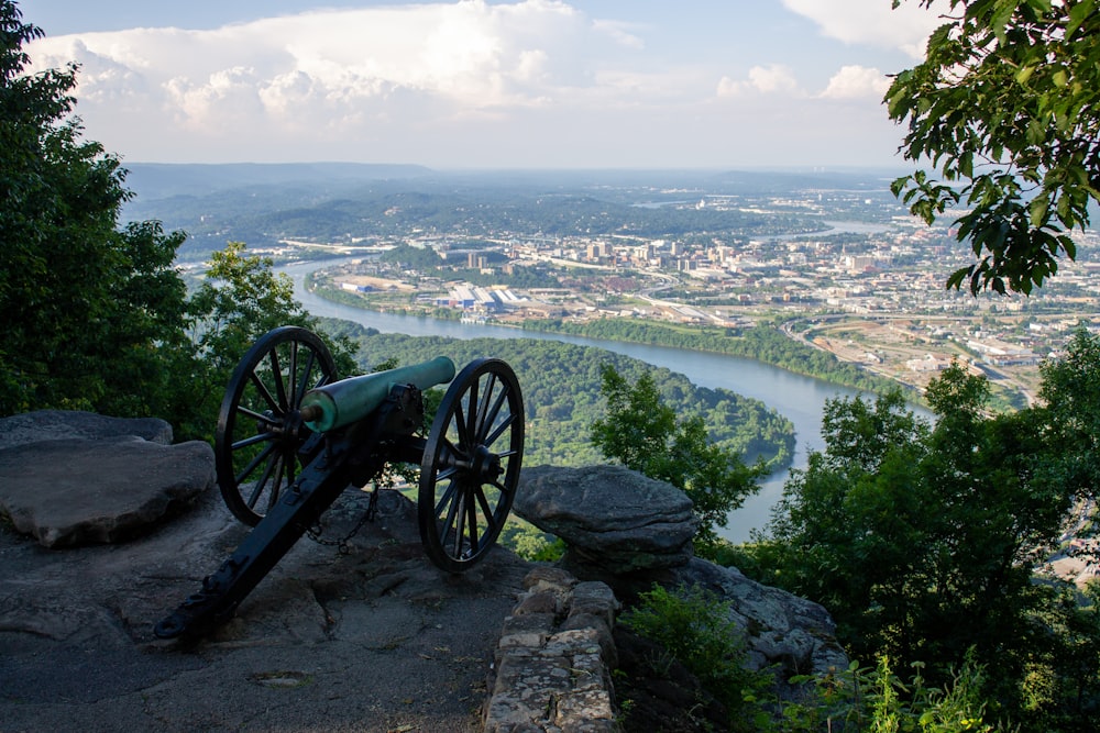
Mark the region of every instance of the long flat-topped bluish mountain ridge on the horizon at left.
[[127, 163], [127, 186], [145, 199], [207, 196], [253, 186], [404, 180], [435, 171], [374, 163]]

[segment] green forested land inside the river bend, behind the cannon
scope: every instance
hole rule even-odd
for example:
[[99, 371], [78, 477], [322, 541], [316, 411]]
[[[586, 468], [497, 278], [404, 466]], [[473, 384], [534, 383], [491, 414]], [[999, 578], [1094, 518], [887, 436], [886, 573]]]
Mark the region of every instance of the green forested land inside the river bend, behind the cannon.
[[681, 374], [592, 346], [524, 338], [458, 340], [382, 334], [343, 321], [327, 321], [330, 332], [351, 336], [360, 346], [364, 370], [394, 359], [416, 364], [439, 355], [458, 368], [480, 356], [498, 357], [516, 370], [527, 410], [526, 465], [579, 466], [603, 463], [592, 445], [592, 423], [604, 415], [601, 367], [610, 364], [629, 381], [652, 374], [664, 400], [678, 413], [701, 414], [712, 440], [746, 463], [762, 458], [773, 467], [790, 463], [794, 426], [762, 402], [724, 389], [696, 387]]

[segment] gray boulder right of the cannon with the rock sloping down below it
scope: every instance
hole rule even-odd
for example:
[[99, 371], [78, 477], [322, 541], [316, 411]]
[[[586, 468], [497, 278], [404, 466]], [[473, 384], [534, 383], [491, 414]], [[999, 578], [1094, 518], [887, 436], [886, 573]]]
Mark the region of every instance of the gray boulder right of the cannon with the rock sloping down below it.
[[790, 676], [846, 667], [824, 608], [691, 556], [696, 525], [690, 507], [682, 491], [624, 468], [543, 466], [525, 470], [515, 511], [565, 542], [565, 569], [606, 582], [619, 599], [630, 601], [659, 582], [698, 585], [729, 601], [752, 668], [778, 666]]

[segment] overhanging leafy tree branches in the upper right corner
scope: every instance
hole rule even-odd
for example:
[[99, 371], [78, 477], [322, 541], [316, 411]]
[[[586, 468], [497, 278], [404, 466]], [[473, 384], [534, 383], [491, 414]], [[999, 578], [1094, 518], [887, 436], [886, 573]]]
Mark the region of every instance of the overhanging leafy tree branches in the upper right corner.
[[[897, 8], [902, 0], [894, 0]], [[930, 7], [934, 0], [916, 0]], [[1030, 293], [1074, 259], [1070, 233], [1100, 201], [1100, 12], [1097, 0], [949, 0], [925, 60], [886, 96], [908, 123], [901, 151], [931, 160], [892, 184], [927, 223], [955, 204], [976, 262], [947, 287]]]

